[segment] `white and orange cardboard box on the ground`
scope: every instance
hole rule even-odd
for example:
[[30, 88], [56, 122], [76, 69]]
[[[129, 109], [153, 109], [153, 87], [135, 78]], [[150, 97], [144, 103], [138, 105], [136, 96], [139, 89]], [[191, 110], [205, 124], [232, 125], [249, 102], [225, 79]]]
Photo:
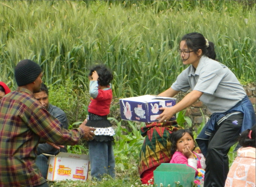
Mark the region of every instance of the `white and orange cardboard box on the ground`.
[[89, 169], [89, 156], [73, 153], [49, 155], [49, 168], [47, 179], [49, 181], [60, 180], [87, 180]]

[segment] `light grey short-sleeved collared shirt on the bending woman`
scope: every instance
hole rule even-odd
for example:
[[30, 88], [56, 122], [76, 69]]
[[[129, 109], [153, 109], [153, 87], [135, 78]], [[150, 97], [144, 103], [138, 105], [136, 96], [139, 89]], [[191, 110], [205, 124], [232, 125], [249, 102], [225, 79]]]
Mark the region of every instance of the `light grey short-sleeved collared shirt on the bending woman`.
[[200, 97], [212, 113], [226, 112], [245, 96], [244, 88], [225, 65], [203, 55], [195, 69], [190, 65], [177, 77], [172, 89], [186, 92], [197, 90], [204, 94]]

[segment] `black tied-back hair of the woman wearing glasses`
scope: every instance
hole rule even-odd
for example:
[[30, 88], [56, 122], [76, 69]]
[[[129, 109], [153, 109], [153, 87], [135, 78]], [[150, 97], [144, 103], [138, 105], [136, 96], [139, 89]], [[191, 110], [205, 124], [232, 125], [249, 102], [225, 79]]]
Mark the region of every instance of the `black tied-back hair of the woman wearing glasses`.
[[209, 46], [206, 46], [206, 38], [198, 32], [192, 32], [182, 37], [181, 41], [185, 41], [188, 48], [195, 53], [201, 49], [202, 54], [206, 55], [212, 60], [216, 60], [216, 53], [214, 50], [214, 43], [208, 42]]

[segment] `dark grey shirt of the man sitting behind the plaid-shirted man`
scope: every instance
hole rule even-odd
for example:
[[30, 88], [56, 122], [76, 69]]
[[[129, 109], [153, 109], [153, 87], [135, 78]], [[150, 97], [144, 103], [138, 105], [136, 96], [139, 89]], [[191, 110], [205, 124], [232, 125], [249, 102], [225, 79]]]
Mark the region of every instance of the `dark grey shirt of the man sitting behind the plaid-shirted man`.
[[[64, 128], [64, 129], [68, 129], [68, 118], [66, 113], [60, 109], [59, 107], [56, 107], [54, 105], [51, 105], [49, 103], [47, 111], [53, 116], [56, 117], [59, 121], [60, 121], [60, 127]], [[49, 145], [48, 143], [40, 143], [38, 144], [37, 148], [36, 148], [36, 152], [37, 155], [40, 155], [42, 153], [46, 153], [49, 155], [58, 155], [58, 153], [60, 152], [68, 152], [67, 150], [67, 146], [65, 146], [64, 148], [60, 148], [60, 149], [56, 149], [54, 147], [52, 147], [51, 145]]]

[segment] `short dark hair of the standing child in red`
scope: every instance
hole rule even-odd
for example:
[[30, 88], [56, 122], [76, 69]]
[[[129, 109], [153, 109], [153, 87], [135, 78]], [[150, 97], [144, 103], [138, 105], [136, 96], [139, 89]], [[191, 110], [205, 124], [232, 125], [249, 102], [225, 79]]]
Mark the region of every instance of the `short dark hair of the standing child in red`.
[[113, 80], [113, 74], [108, 68], [106, 68], [104, 64], [96, 65], [90, 68], [89, 76], [92, 76], [92, 72], [94, 71], [96, 71], [99, 76], [98, 84], [100, 86], [108, 86]]

